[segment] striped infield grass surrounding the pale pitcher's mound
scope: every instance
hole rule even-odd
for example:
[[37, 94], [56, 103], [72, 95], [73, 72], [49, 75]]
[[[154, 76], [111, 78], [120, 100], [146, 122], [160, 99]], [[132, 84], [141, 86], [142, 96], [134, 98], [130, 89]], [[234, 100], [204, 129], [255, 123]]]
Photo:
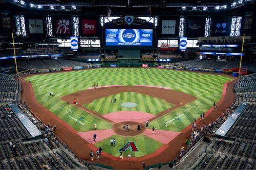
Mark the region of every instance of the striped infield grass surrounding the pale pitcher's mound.
[[[116, 103], [111, 103], [111, 99], [116, 98]], [[137, 106], [133, 108], [122, 107], [122, 103], [133, 102]], [[96, 99], [93, 102], [84, 105], [100, 114], [108, 114], [116, 111], [133, 110], [157, 114], [163, 110], [173, 107], [174, 104], [165, 102], [163, 99], [153, 96], [137, 93], [137, 92], [122, 92], [114, 95], [109, 95], [104, 98]]]

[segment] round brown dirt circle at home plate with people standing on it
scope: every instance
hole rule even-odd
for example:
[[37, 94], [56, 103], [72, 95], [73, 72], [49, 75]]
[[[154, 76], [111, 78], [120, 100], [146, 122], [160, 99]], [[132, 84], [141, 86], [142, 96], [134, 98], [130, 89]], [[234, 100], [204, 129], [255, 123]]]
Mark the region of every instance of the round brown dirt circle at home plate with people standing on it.
[[[125, 131], [123, 130], [123, 124], [125, 124]], [[129, 131], [126, 130], [126, 125], [129, 124]], [[140, 125], [140, 131], [137, 130], [138, 125]], [[146, 126], [144, 124], [140, 124], [138, 122], [120, 122], [114, 124], [112, 127], [113, 131], [122, 136], [136, 136], [142, 134], [146, 130]]]

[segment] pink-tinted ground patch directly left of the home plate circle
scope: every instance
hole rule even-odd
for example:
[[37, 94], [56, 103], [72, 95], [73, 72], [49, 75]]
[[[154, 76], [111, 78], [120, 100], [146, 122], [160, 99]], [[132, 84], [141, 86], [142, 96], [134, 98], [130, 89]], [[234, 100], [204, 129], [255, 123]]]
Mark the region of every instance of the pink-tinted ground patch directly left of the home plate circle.
[[115, 132], [112, 129], [105, 129], [105, 130], [95, 130], [95, 131], [87, 131], [87, 132], [78, 132], [79, 136], [81, 136], [84, 140], [86, 140], [88, 143], [95, 143], [93, 141], [93, 135], [97, 135], [97, 142], [104, 140], [112, 135], [115, 134]]

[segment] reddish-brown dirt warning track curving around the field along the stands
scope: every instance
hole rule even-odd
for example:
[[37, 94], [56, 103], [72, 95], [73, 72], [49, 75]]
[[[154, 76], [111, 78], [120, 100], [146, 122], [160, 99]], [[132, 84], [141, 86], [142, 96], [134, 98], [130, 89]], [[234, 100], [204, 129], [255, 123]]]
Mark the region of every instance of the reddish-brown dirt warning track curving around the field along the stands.
[[[226, 110], [231, 103], [234, 101], [234, 83], [236, 80], [232, 80], [227, 83], [227, 89], [225, 95], [222, 96], [221, 102], [217, 103], [218, 110], [212, 111], [208, 114], [203, 120], [197, 123], [197, 127], [200, 127], [205, 124], [209, 124], [214, 122], [222, 113], [222, 111]], [[26, 102], [28, 108], [38, 116], [42, 122], [45, 124], [50, 123], [51, 125], [56, 124], [58, 130], [56, 134], [58, 137], [65, 142], [68, 147], [80, 158], [91, 162], [90, 161], [90, 151], [91, 148], [96, 149], [96, 147], [92, 144], [89, 144], [86, 140], [80, 137], [76, 131], [70, 127], [66, 122], [58, 118], [52, 112], [50, 112], [47, 108], [41, 106], [34, 97], [34, 92], [32, 85], [28, 82], [22, 80], [22, 99]], [[104, 88], [102, 88], [104, 89]], [[95, 89], [98, 90], [98, 89]], [[92, 90], [93, 91], [93, 90]], [[154, 92], [154, 91], [153, 91]], [[113, 91], [114, 93], [118, 93]], [[157, 92], [155, 92], [155, 95]], [[98, 95], [97, 98], [100, 98], [100, 93], [91, 93], [93, 95], [89, 95], [88, 98], [91, 96], [91, 100], [94, 98], [94, 95]], [[110, 95], [110, 94], [109, 94]], [[152, 94], [151, 94], [152, 95]], [[103, 95], [104, 96], [104, 95]], [[154, 96], [154, 95], [153, 95]], [[158, 95], [157, 95], [158, 96]], [[161, 96], [161, 98], [163, 98]], [[73, 98], [74, 99], [74, 98]], [[72, 101], [73, 101], [72, 99]], [[186, 98], [183, 98], [186, 99]], [[70, 102], [72, 102], [70, 101]], [[89, 101], [90, 102], [90, 101]], [[173, 102], [171, 102], [173, 103]], [[182, 102], [184, 103], [184, 101]], [[173, 107], [172, 107], [173, 108]], [[156, 163], [164, 163], [171, 161], [176, 158], [176, 156], [180, 152], [180, 148], [184, 145], [184, 141], [189, 137], [191, 133], [191, 129], [187, 129], [182, 131], [176, 138], [168, 143], [168, 145], [164, 145], [158, 149], [155, 153], [148, 154], [143, 157], [131, 159], [130, 168], [131, 169], [141, 169], [142, 168], [142, 161], [146, 160], [146, 165], [156, 164]], [[103, 149], [104, 150], [104, 149]], [[127, 158], [120, 160], [114, 156], [110, 156], [109, 154], [103, 153], [100, 159], [94, 160], [93, 163], [100, 163], [113, 166], [115, 169], [128, 169], [128, 161]]]

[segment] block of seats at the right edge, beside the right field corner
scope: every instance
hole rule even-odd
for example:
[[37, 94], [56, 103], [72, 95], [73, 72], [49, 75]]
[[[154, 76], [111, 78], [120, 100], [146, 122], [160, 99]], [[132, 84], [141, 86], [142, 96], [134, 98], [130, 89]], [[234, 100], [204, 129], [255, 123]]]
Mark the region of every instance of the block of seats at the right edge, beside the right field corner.
[[237, 84], [236, 92], [240, 101], [256, 102], [256, 74], [244, 76]]

